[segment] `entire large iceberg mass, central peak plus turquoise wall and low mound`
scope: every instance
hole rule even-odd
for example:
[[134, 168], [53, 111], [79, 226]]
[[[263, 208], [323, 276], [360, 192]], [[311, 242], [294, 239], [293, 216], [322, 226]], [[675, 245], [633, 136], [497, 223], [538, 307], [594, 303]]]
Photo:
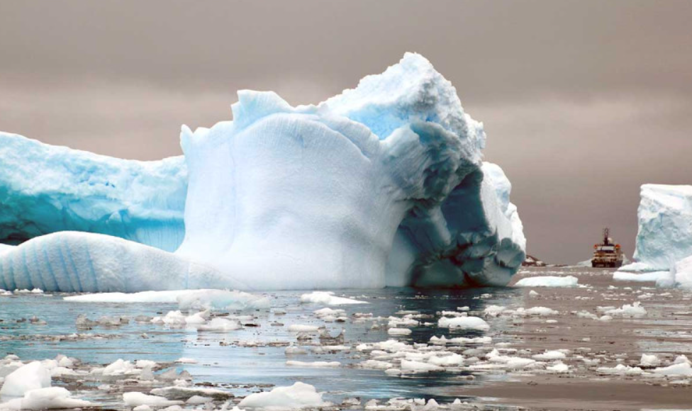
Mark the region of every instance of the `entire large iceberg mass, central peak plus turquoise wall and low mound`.
[[[194, 133], [182, 128], [188, 179], [184, 240], [175, 253], [57, 233], [0, 250], [0, 286], [504, 285], [523, 261], [525, 239], [509, 202], [509, 181], [499, 167], [481, 161], [482, 125], [464, 113], [452, 84], [420, 55], [407, 53], [383, 74], [316, 106], [239, 91], [232, 109], [233, 121]], [[9, 203], [18, 203], [9, 210], [33, 210], [29, 218], [13, 211], [10, 219], [23, 227], [16, 237], [73, 229], [162, 249], [178, 241], [166, 230], [169, 222], [175, 235], [182, 232], [176, 218], [185, 184], [175, 182], [184, 180], [185, 170], [179, 159], [147, 164], [72, 151], [79, 159], [74, 167], [67, 149], [55, 150], [62, 157], [51, 150], [28, 157], [0, 152], [3, 161], [15, 156], [15, 163], [45, 164], [62, 175], [40, 184], [40, 170], [34, 179], [1, 176], [0, 184], [12, 188]], [[70, 181], [63, 181], [63, 171]], [[70, 182], [73, 187], [66, 187]], [[45, 196], [46, 205], [31, 205], [33, 196]], [[74, 225], [55, 228], [65, 221]], [[140, 229], [146, 234], [138, 237]], [[157, 235], [160, 240], [150, 240]]]

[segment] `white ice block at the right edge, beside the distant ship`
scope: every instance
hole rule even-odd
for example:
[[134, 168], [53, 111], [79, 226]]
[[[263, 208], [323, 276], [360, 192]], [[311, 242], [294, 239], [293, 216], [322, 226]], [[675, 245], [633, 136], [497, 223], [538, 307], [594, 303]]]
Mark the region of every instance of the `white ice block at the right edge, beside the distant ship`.
[[635, 259], [669, 270], [692, 255], [692, 186], [644, 184], [641, 196]]

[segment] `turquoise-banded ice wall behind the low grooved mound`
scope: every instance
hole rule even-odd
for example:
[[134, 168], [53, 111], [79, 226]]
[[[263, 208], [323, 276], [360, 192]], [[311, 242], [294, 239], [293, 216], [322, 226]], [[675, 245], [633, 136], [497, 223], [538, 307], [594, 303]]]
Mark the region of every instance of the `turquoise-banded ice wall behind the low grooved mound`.
[[0, 164], [0, 242], [63, 230], [114, 235], [168, 251], [182, 241], [182, 157], [116, 159], [0, 132]]

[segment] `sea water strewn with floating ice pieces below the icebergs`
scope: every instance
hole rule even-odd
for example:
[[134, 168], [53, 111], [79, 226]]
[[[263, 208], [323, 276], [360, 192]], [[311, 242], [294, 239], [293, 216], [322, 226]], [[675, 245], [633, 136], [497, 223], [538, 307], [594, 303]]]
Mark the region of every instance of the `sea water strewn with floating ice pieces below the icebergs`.
[[[246, 398], [246, 404], [257, 400], [255, 393], [282, 393], [296, 381], [333, 404], [330, 410], [377, 405], [394, 411], [407, 401], [411, 407], [414, 398], [416, 407], [430, 403], [430, 410], [506, 409], [474, 397], [474, 390], [515, 382], [538, 393], [548, 382], [574, 387], [597, 379], [608, 385], [625, 376], [632, 390], [654, 390], [649, 401], [666, 404], [666, 385], [692, 378], [689, 292], [657, 289], [652, 282], [615, 283], [612, 274], [521, 271], [520, 278], [574, 276], [582, 285], [536, 290], [348, 290], [335, 295], [366, 304], [332, 307], [306, 303], [307, 293], [291, 291], [257, 293], [269, 301], [260, 308], [207, 309], [198, 300], [202, 304], [184, 310], [172, 300], [0, 296], [0, 347], [18, 356], [0, 359], [0, 373], [38, 360], [50, 371], [52, 387], [68, 390], [40, 398], [113, 410], [149, 401], [179, 401], [186, 410], [228, 404], [230, 410]], [[157, 300], [155, 294], [173, 295], [135, 299]], [[247, 295], [235, 295], [241, 296]], [[298, 385], [295, 391], [310, 395], [313, 388]], [[388, 404], [391, 398], [402, 399]], [[551, 409], [549, 403], [538, 408]], [[602, 403], [599, 409], [609, 408]]]

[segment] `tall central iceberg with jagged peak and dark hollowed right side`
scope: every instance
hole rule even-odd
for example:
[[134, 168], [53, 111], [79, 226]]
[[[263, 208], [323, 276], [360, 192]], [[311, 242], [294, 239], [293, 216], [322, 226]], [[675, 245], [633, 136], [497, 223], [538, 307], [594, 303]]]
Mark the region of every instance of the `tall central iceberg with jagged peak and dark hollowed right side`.
[[238, 98], [233, 122], [182, 130], [180, 255], [265, 289], [498, 285], [523, 261], [482, 125], [420, 55], [318, 106]]

